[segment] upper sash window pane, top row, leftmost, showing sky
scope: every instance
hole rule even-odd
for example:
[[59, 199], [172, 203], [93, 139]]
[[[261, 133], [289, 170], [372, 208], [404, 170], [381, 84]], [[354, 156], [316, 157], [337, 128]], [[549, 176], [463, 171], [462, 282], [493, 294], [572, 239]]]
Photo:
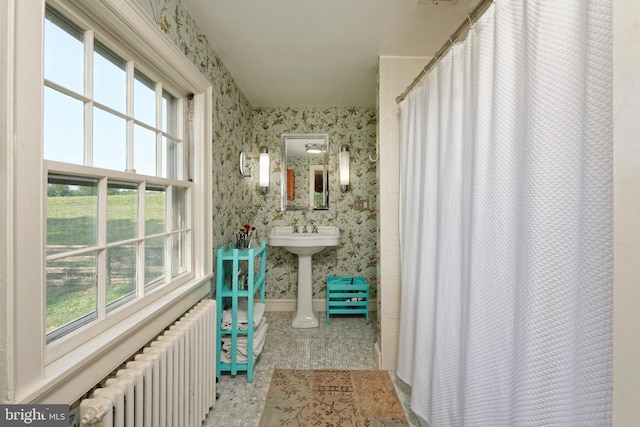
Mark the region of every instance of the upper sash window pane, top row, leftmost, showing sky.
[[44, 78], [76, 93], [84, 94], [82, 30], [50, 8], [47, 8], [46, 17]]

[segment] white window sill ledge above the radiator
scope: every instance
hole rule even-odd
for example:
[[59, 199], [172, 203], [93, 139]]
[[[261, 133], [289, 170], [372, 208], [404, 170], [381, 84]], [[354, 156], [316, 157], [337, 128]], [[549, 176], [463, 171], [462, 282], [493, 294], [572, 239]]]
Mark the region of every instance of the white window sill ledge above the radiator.
[[210, 292], [211, 275], [149, 304], [134, 316], [45, 367], [43, 378], [17, 403], [71, 404]]

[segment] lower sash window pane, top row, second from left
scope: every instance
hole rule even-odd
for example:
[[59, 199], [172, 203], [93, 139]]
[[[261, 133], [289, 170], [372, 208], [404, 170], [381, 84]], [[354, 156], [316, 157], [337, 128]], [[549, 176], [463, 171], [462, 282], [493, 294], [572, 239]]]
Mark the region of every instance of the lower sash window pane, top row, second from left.
[[109, 181], [107, 191], [107, 242], [138, 236], [138, 186]]

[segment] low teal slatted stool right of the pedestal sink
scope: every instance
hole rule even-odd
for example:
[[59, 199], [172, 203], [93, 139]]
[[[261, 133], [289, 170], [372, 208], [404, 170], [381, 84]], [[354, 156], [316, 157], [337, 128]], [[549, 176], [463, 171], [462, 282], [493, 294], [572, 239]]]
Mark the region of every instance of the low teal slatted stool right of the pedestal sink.
[[327, 325], [331, 314], [364, 314], [369, 323], [369, 284], [364, 277], [327, 276]]

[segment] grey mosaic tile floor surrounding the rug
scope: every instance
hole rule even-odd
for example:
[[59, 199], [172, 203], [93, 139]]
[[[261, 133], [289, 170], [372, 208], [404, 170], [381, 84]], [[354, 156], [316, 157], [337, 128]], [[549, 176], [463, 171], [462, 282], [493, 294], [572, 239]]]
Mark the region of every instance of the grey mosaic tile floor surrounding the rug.
[[[258, 426], [269, 390], [271, 374], [280, 369], [377, 369], [374, 345], [375, 313], [367, 325], [364, 316], [331, 316], [318, 313], [320, 326], [310, 329], [291, 327], [290, 312], [267, 312], [267, 340], [255, 365], [253, 382], [246, 374], [232, 377], [223, 373], [217, 391], [220, 398], [203, 427]], [[390, 372], [398, 397], [411, 426], [419, 426], [409, 409], [410, 389]]]

